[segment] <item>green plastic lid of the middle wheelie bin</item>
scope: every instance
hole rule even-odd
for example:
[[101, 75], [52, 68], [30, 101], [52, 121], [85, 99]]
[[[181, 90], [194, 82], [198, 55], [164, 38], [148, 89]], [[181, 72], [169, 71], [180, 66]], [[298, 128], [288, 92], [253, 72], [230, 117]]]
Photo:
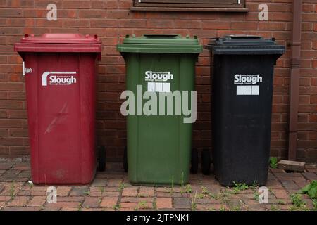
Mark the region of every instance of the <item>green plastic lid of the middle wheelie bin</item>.
[[141, 37], [127, 35], [118, 51], [125, 53], [201, 53], [198, 38], [182, 37], [180, 34], [143, 34]]

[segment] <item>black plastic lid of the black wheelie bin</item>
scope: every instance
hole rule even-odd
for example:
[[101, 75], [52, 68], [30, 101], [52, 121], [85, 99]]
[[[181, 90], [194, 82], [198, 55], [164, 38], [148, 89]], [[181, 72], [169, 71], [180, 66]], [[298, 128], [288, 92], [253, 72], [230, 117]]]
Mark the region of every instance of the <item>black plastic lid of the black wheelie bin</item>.
[[282, 55], [285, 46], [275, 43], [275, 39], [264, 39], [256, 35], [228, 35], [222, 38], [211, 39], [204, 46], [213, 54], [218, 55]]

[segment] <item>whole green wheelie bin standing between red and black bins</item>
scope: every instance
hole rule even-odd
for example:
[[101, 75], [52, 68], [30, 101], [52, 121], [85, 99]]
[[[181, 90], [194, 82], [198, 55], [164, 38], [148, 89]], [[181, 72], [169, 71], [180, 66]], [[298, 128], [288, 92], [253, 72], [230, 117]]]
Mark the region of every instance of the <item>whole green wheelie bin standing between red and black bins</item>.
[[127, 116], [129, 181], [186, 184], [195, 118], [184, 107], [190, 117], [196, 115], [195, 63], [202, 46], [197, 37], [144, 34], [125, 37], [118, 51], [126, 63], [128, 92], [121, 96], [126, 100], [121, 113]]

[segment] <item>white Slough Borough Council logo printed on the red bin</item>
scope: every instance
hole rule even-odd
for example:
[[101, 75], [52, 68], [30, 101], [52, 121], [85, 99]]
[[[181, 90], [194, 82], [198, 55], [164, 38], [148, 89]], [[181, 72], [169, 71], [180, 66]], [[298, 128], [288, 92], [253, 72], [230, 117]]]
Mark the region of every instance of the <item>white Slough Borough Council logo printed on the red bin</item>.
[[77, 82], [74, 76], [77, 72], [43, 72], [42, 86], [70, 85]]

